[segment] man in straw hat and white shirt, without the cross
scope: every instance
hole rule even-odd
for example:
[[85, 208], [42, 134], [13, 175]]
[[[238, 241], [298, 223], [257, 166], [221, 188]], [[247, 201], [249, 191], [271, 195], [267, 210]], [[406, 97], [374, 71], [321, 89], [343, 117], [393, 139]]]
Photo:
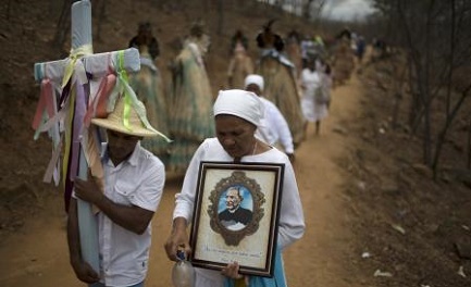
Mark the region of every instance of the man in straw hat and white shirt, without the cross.
[[78, 279], [98, 286], [144, 286], [151, 241], [150, 221], [162, 197], [165, 180], [163, 163], [140, 147], [140, 139], [158, 134], [142, 125], [131, 108], [124, 125], [125, 100], [120, 99], [107, 118], [91, 124], [107, 129], [103, 149], [104, 194], [97, 180], [75, 179], [75, 196], [98, 207], [100, 274], [79, 252], [77, 202], [69, 208], [67, 239], [71, 264]]

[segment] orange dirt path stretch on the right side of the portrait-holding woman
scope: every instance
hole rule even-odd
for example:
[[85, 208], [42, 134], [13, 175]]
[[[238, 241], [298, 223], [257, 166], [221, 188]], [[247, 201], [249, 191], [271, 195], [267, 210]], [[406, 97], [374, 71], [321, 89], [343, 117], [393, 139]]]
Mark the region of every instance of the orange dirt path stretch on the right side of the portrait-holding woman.
[[313, 126], [297, 150], [295, 164], [307, 223], [306, 235], [285, 251], [290, 286], [355, 286], [349, 274], [351, 238], [344, 213], [344, 174], [336, 162], [348, 146], [345, 122], [355, 118], [361, 87], [354, 77], [333, 92], [330, 116], [314, 136]]

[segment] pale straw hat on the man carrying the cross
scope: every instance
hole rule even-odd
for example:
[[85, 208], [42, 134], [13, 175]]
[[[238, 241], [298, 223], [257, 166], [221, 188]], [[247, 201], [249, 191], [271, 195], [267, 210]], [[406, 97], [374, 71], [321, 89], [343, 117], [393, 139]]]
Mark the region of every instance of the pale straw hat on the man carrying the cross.
[[[123, 118], [124, 118], [124, 97], [121, 97], [115, 107], [113, 112], [111, 112], [107, 118], [92, 118], [91, 123], [104, 127], [107, 129], [112, 129], [119, 133], [123, 133], [126, 135], [132, 136], [138, 136], [138, 137], [154, 137], [158, 136], [159, 133], [153, 129], [147, 128], [142, 122], [139, 118], [139, 115], [137, 114], [135, 108], [133, 104], [129, 107], [129, 117], [128, 117], [128, 127], [124, 126]], [[146, 116], [146, 109], [144, 108], [144, 115]]]

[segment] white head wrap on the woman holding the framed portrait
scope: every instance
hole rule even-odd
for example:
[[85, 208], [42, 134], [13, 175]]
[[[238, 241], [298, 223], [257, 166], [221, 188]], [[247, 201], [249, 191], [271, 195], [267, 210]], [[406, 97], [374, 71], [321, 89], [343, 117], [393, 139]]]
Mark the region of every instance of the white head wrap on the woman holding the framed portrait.
[[263, 107], [260, 98], [251, 91], [221, 90], [215, 99], [213, 113], [214, 116], [218, 114], [235, 115], [259, 126], [264, 113]]

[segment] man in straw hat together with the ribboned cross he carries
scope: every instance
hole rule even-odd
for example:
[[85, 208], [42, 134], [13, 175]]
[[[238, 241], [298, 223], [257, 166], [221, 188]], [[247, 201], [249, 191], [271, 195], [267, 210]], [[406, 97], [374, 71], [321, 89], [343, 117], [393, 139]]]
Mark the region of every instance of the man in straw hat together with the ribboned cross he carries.
[[[62, 179], [77, 277], [94, 287], [140, 287], [165, 175], [139, 141], [163, 135], [149, 124], [128, 84], [127, 72], [139, 70], [137, 49], [92, 54], [90, 1], [74, 2], [71, 14], [70, 57], [35, 64], [41, 82], [35, 138], [48, 132], [53, 141], [45, 182]], [[101, 153], [97, 126], [108, 130]]]

